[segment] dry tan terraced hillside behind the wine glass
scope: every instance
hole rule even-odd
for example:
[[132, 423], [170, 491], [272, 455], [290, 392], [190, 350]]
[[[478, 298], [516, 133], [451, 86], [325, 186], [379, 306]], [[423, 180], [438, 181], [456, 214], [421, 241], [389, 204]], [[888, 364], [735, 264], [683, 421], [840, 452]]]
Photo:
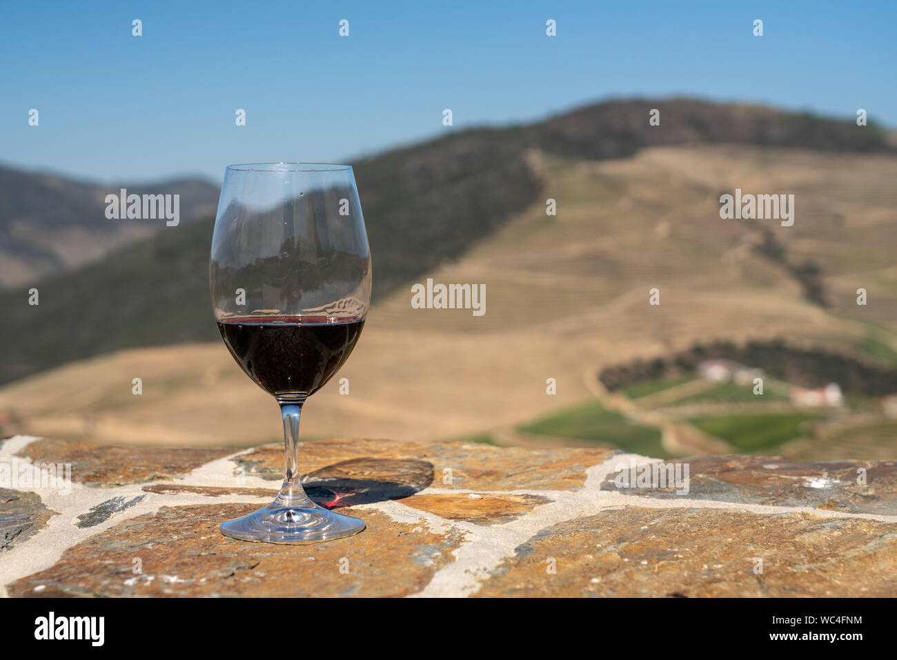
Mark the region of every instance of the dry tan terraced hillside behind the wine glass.
[[[731, 394], [725, 388], [685, 383], [625, 404], [601, 390], [597, 375], [719, 339], [781, 339], [876, 369], [895, 367], [892, 154], [705, 143], [603, 161], [534, 149], [526, 159], [538, 173], [540, 196], [558, 200], [558, 215], [546, 216], [536, 199], [462, 256], [418, 276], [484, 283], [486, 314], [413, 309], [405, 287], [381, 294], [340, 372], [350, 394], [340, 395], [333, 383], [315, 395], [303, 416], [305, 438], [657, 447], [658, 429], [668, 423], [677, 443], [669, 445], [674, 434], [663, 428], [668, 454], [725, 453], [753, 441], [709, 415], [715, 405], [730, 406], [707, 399]], [[793, 191], [794, 226], [720, 220], [719, 191], [736, 186]], [[780, 249], [763, 247], [764, 230]], [[826, 306], [808, 299], [790, 267], [807, 261], [819, 266]], [[868, 290], [866, 307], [856, 305], [860, 286]], [[652, 287], [661, 291], [656, 307], [648, 304]], [[199, 313], [205, 305], [197, 304]], [[136, 377], [144, 381], [141, 396], [131, 394]], [[548, 378], [556, 395], [546, 394]], [[851, 395], [849, 382], [843, 385]], [[640, 387], [632, 396], [658, 389]], [[787, 395], [782, 399], [778, 388], [770, 384], [770, 412], [759, 418], [771, 429], [771, 421], [780, 422], [777, 442], [808, 417], [783, 409]], [[671, 401], [682, 405], [664, 412]], [[897, 429], [875, 405], [861, 397], [865, 412], [836, 412], [813, 442], [799, 439], [775, 451], [801, 460], [858, 451], [893, 458]], [[50, 438], [248, 446], [281, 432], [274, 403], [220, 340], [68, 364], [0, 389], [0, 412], [18, 430]], [[696, 426], [684, 424], [692, 419]]]

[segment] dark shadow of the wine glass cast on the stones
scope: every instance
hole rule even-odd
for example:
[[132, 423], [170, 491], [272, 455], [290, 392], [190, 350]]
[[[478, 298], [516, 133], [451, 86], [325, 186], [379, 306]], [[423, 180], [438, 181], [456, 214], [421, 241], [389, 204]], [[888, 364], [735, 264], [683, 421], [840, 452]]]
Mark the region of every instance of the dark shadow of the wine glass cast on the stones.
[[302, 486], [324, 508], [402, 499], [433, 481], [433, 464], [396, 458], [353, 458], [306, 474]]

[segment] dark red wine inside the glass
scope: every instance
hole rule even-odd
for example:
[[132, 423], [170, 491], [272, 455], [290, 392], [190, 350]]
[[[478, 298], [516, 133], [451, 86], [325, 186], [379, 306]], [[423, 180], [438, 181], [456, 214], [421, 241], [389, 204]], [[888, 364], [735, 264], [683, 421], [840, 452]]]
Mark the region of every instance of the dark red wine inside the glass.
[[239, 317], [218, 324], [234, 360], [274, 396], [304, 399], [349, 357], [364, 319]]

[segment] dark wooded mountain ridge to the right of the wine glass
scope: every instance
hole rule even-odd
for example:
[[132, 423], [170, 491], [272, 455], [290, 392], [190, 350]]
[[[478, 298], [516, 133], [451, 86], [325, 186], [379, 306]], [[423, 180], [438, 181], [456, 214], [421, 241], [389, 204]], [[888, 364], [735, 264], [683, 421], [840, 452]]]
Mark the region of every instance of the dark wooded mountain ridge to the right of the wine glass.
[[[660, 126], [649, 112], [660, 109]], [[579, 160], [701, 143], [820, 152], [897, 152], [884, 129], [807, 113], [702, 100], [612, 100], [527, 126], [481, 128], [353, 164], [370, 234], [375, 291], [464, 253], [541, 191], [528, 150]]]

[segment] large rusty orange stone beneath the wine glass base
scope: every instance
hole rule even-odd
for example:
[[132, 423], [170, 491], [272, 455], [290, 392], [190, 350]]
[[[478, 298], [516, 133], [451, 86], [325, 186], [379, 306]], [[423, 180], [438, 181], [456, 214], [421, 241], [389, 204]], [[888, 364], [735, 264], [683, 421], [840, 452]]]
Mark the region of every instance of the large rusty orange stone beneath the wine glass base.
[[222, 520], [255, 508], [162, 507], [69, 548], [54, 566], [8, 586], [9, 594], [403, 596], [421, 590], [452, 561], [463, 538], [458, 531], [434, 533], [370, 510], [353, 512], [368, 525], [361, 534], [313, 545], [246, 543], [218, 531]]

